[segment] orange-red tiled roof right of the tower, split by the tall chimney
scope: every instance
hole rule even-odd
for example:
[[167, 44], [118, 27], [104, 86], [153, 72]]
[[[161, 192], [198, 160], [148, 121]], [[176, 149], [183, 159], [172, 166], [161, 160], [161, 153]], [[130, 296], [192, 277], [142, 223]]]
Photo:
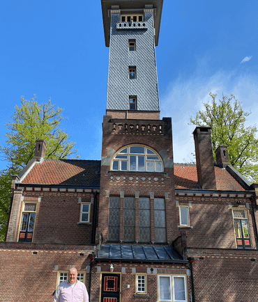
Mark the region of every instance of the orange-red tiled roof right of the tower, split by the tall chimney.
[[[218, 190], [245, 191], [245, 187], [228, 170], [216, 166], [214, 169]], [[197, 168], [194, 164], [175, 164], [174, 175], [176, 189], [198, 189]]]

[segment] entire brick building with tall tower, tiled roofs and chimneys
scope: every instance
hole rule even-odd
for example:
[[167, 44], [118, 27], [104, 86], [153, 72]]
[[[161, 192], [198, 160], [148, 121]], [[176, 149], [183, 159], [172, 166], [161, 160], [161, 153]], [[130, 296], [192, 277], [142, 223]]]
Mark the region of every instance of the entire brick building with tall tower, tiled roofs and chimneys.
[[[160, 120], [155, 46], [162, 0], [102, 0], [109, 47], [101, 161], [45, 159], [13, 177], [3, 301], [52, 301], [68, 269], [91, 302], [258, 301], [257, 189], [194, 132], [174, 164]], [[4, 289], [3, 289], [4, 288]]]

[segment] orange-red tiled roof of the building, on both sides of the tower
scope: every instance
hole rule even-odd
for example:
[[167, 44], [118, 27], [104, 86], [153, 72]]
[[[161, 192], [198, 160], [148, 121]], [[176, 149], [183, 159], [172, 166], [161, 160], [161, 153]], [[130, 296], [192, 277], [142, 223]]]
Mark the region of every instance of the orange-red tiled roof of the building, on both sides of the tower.
[[[195, 164], [174, 164], [176, 189], [198, 189]], [[227, 169], [215, 166], [218, 190], [245, 191], [245, 186]], [[64, 186], [100, 186], [100, 161], [79, 159], [45, 159], [36, 163], [21, 179], [22, 184], [50, 184]]]

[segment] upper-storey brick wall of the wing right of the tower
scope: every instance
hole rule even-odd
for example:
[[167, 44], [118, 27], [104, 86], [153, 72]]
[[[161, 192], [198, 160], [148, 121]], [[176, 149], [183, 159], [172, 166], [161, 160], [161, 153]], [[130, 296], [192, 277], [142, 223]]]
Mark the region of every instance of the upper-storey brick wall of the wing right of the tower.
[[[236, 248], [232, 208], [245, 209], [248, 216], [250, 241], [253, 249], [255, 240], [254, 216], [248, 198], [216, 198], [177, 196], [179, 205], [189, 205], [190, 228], [185, 230], [187, 246], [199, 248]], [[237, 200], [241, 200], [238, 205]], [[179, 218], [176, 218], [179, 225]], [[178, 227], [179, 228], [179, 227]]]

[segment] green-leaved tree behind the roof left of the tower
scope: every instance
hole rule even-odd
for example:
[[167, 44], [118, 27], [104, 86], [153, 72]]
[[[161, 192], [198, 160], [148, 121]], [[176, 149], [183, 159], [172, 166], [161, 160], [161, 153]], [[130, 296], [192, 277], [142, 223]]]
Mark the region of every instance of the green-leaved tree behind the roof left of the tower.
[[59, 129], [63, 109], [46, 103], [38, 104], [36, 96], [31, 100], [21, 97], [21, 105], [15, 106], [12, 119], [6, 122], [6, 145], [0, 146], [0, 152], [8, 165], [0, 171], [0, 241], [6, 232], [6, 223], [10, 207], [11, 176], [20, 173], [33, 158], [35, 142], [43, 139], [47, 145], [45, 158], [67, 159], [77, 155], [75, 143], [68, 134]]

